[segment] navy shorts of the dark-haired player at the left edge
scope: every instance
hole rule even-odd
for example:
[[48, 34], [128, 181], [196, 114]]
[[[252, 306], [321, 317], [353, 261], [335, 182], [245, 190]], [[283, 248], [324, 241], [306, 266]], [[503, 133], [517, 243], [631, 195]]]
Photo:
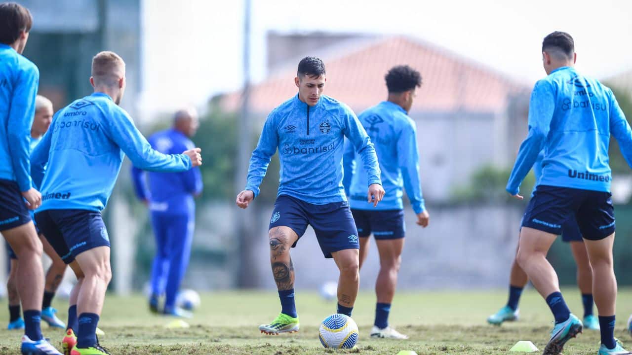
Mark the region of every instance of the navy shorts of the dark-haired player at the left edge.
[[0, 179], [0, 232], [20, 227], [30, 221], [27, 203], [20, 193], [18, 183]]

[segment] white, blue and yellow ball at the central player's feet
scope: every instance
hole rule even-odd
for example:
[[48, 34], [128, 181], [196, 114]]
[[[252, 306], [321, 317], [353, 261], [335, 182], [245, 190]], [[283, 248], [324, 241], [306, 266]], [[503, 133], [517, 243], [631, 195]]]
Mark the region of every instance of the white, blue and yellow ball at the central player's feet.
[[346, 315], [328, 316], [320, 323], [318, 332], [324, 347], [351, 349], [358, 343], [358, 325]]

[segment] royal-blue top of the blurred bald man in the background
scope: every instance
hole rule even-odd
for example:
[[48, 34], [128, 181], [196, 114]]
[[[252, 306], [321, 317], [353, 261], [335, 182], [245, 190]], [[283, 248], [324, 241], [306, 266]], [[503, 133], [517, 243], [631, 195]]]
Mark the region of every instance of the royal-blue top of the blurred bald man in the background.
[[[178, 154], [195, 148], [193, 141], [176, 129], [166, 129], [149, 137], [155, 150]], [[132, 166], [131, 177], [139, 200], [149, 201], [155, 212], [185, 214], [195, 210], [194, 196], [202, 193], [202, 174], [195, 167], [183, 172], [149, 172]]]

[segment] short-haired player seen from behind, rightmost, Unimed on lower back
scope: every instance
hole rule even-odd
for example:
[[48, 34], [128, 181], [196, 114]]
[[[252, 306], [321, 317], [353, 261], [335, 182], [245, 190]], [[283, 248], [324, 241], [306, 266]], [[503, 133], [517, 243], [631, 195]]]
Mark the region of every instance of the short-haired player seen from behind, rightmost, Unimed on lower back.
[[612, 267], [614, 208], [608, 165], [611, 134], [628, 164], [632, 163], [632, 130], [612, 90], [573, 68], [576, 54], [568, 33], [553, 32], [544, 38], [542, 60], [548, 76], [533, 88], [529, 133], [506, 190], [523, 198], [518, 195], [520, 183], [544, 148], [542, 177], [526, 207], [517, 256], [555, 318], [544, 354], [562, 352], [564, 344], [583, 327], [566, 306], [557, 274], [546, 259], [562, 224], [572, 215], [593, 269], [592, 290], [601, 331], [599, 354], [632, 354], [614, 339], [617, 281]]

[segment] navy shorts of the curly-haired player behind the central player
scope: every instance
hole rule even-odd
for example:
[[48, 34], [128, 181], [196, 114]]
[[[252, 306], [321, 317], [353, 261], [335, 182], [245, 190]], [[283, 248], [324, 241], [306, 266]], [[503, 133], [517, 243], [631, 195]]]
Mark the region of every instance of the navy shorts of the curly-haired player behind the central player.
[[358, 236], [365, 238], [373, 233], [375, 239], [404, 238], [404, 210], [351, 209]]

